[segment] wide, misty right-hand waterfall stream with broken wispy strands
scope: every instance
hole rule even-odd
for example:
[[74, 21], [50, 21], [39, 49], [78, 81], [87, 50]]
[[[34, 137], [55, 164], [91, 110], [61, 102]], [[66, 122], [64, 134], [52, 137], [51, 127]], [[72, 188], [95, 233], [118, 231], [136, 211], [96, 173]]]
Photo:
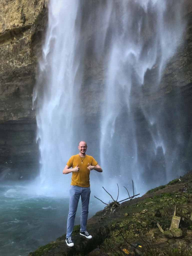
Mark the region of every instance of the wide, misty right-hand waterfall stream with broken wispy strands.
[[[178, 155], [173, 147], [173, 154], [168, 153], [167, 131], [159, 120], [165, 109], [154, 104], [143, 107], [141, 100], [148, 86], [147, 71], [155, 71], [154, 84], [148, 89], [157, 92], [165, 65], [177, 49], [183, 32], [181, 4], [125, 0], [121, 4], [108, 2], [105, 8], [111, 10], [107, 22], [112, 35], [101, 115], [102, 166], [108, 170], [112, 184], [131, 178], [139, 188], [142, 183], [166, 184], [167, 178], [173, 177], [170, 162]], [[142, 123], [139, 115], [146, 123], [143, 127], [138, 127]], [[108, 169], [109, 162], [116, 170], [115, 176]]]

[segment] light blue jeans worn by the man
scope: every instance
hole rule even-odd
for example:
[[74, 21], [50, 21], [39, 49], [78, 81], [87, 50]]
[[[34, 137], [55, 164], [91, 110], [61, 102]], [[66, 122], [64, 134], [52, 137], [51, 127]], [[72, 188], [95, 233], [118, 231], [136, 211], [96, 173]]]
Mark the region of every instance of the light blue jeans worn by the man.
[[71, 188], [69, 190], [69, 215], [67, 219], [66, 238], [70, 237], [73, 231], [74, 220], [77, 212], [77, 206], [78, 206], [80, 195], [81, 195], [81, 204], [82, 204], [80, 231], [81, 232], [86, 231], [87, 217], [89, 213], [90, 193], [91, 193], [90, 187], [84, 188], [84, 187], [71, 185]]

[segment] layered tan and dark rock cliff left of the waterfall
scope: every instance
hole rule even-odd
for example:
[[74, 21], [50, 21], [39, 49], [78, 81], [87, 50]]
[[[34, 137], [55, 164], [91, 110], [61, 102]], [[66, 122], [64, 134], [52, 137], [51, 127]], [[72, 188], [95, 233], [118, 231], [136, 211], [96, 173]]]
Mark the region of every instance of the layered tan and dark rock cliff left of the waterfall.
[[5, 177], [10, 168], [25, 177], [38, 166], [32, 94], [47, 2], [0, 1], [0, 172]]

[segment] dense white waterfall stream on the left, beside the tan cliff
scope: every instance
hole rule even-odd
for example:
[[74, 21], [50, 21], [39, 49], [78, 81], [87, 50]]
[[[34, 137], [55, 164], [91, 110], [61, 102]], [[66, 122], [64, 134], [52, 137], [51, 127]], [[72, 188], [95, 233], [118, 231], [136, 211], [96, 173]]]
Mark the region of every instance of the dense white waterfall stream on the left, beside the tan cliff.
[[[63, 187], [62, 170], [77, 144], [78, 94], [82, 83], [78, 1], [51, 0], [49, 23], [34, 90], [41, 189]], [[76, 142], [76, 143], [74, 143]], [[65, 177], [68, 180], [68, 176]], [[57, 180], [57, 187], [54, 181]], [[69, 183], [70, 184], [70, 183]]]

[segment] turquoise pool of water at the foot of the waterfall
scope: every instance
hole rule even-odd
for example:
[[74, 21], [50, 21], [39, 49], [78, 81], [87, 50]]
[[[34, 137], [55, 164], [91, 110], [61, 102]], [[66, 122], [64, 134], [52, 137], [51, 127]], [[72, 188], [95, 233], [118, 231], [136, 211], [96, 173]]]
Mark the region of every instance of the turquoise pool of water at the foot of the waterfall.
[[[26, 184], [0, 184], [0, 255], [25, 256], [66, 233], [68, 204], [68, 198], [33, 195]], [[102, 208], [92, 195], [89, 218]], [[75, 225], [80, 214], [78, 207]]]

